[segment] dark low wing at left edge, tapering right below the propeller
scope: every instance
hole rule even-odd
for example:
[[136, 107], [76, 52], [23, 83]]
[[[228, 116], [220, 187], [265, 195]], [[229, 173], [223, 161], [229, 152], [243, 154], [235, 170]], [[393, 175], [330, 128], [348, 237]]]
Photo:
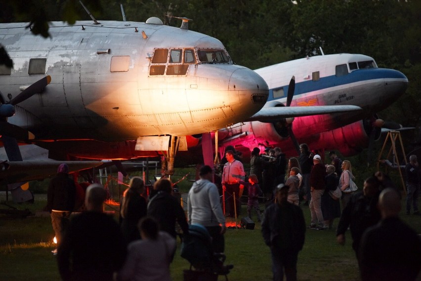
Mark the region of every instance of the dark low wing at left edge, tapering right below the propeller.
[[101, 161], [1, 161], [0, 183], [11, 184], [44, 179], [55, 175], [61, 163], [69, 165], [70, 173], [97, 167], [102, 164]]

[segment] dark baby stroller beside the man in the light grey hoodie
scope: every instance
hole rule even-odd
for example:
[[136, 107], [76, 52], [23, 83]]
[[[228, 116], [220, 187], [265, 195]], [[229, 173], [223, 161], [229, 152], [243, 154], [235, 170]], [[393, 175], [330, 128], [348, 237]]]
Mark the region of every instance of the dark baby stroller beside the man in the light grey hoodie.
[[181, 245], [181, 257], [190, 262], [190, 269], [183, 271], [184, 281], [216, 281], [218, 275], [224, 275], [228, 281], [227, 274], [234, 267], [223, 265], [225, 255], [212, 251], [211, 235], [199, 224], [189, 226], [189, 234]]

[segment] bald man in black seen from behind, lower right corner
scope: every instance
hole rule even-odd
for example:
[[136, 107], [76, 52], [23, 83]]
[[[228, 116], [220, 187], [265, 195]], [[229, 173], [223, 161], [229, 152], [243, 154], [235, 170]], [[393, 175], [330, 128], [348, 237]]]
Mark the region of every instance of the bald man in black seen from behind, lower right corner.
[[399, 194], [380, 193], [381, 221], [367, 229], [360, 244], [362, 281], [413, 281], [421, 269], [421, 242], [417, 233], [398, 218]]

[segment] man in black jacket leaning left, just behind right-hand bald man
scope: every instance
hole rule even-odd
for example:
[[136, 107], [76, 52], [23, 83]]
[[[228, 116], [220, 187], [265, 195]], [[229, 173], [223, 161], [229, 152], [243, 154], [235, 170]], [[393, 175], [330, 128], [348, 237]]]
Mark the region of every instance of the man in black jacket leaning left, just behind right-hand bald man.
[[363, 192], [355, 193], [340, 215], [337, 225], [337, 242], [345, 244], [345, 232], [349, 227], [352, 236], [352, 248], [358, 258], [361, 237], [367, 228], [377, 224], [380, 212], [377, 207], [379, 201], [379, 180], [369, 177], [364, 182]]

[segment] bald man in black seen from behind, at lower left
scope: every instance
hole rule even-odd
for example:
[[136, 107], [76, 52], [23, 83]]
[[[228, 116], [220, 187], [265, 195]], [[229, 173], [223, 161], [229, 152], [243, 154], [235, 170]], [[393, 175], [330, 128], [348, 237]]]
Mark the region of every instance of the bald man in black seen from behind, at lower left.
[[86, 212], [70, 220], [57, 250], [63, 281], [113, 281], [126, 258], [126, 242], [115, 219], [103, 212], [107, 193], [100, 184], [86, 189]]

